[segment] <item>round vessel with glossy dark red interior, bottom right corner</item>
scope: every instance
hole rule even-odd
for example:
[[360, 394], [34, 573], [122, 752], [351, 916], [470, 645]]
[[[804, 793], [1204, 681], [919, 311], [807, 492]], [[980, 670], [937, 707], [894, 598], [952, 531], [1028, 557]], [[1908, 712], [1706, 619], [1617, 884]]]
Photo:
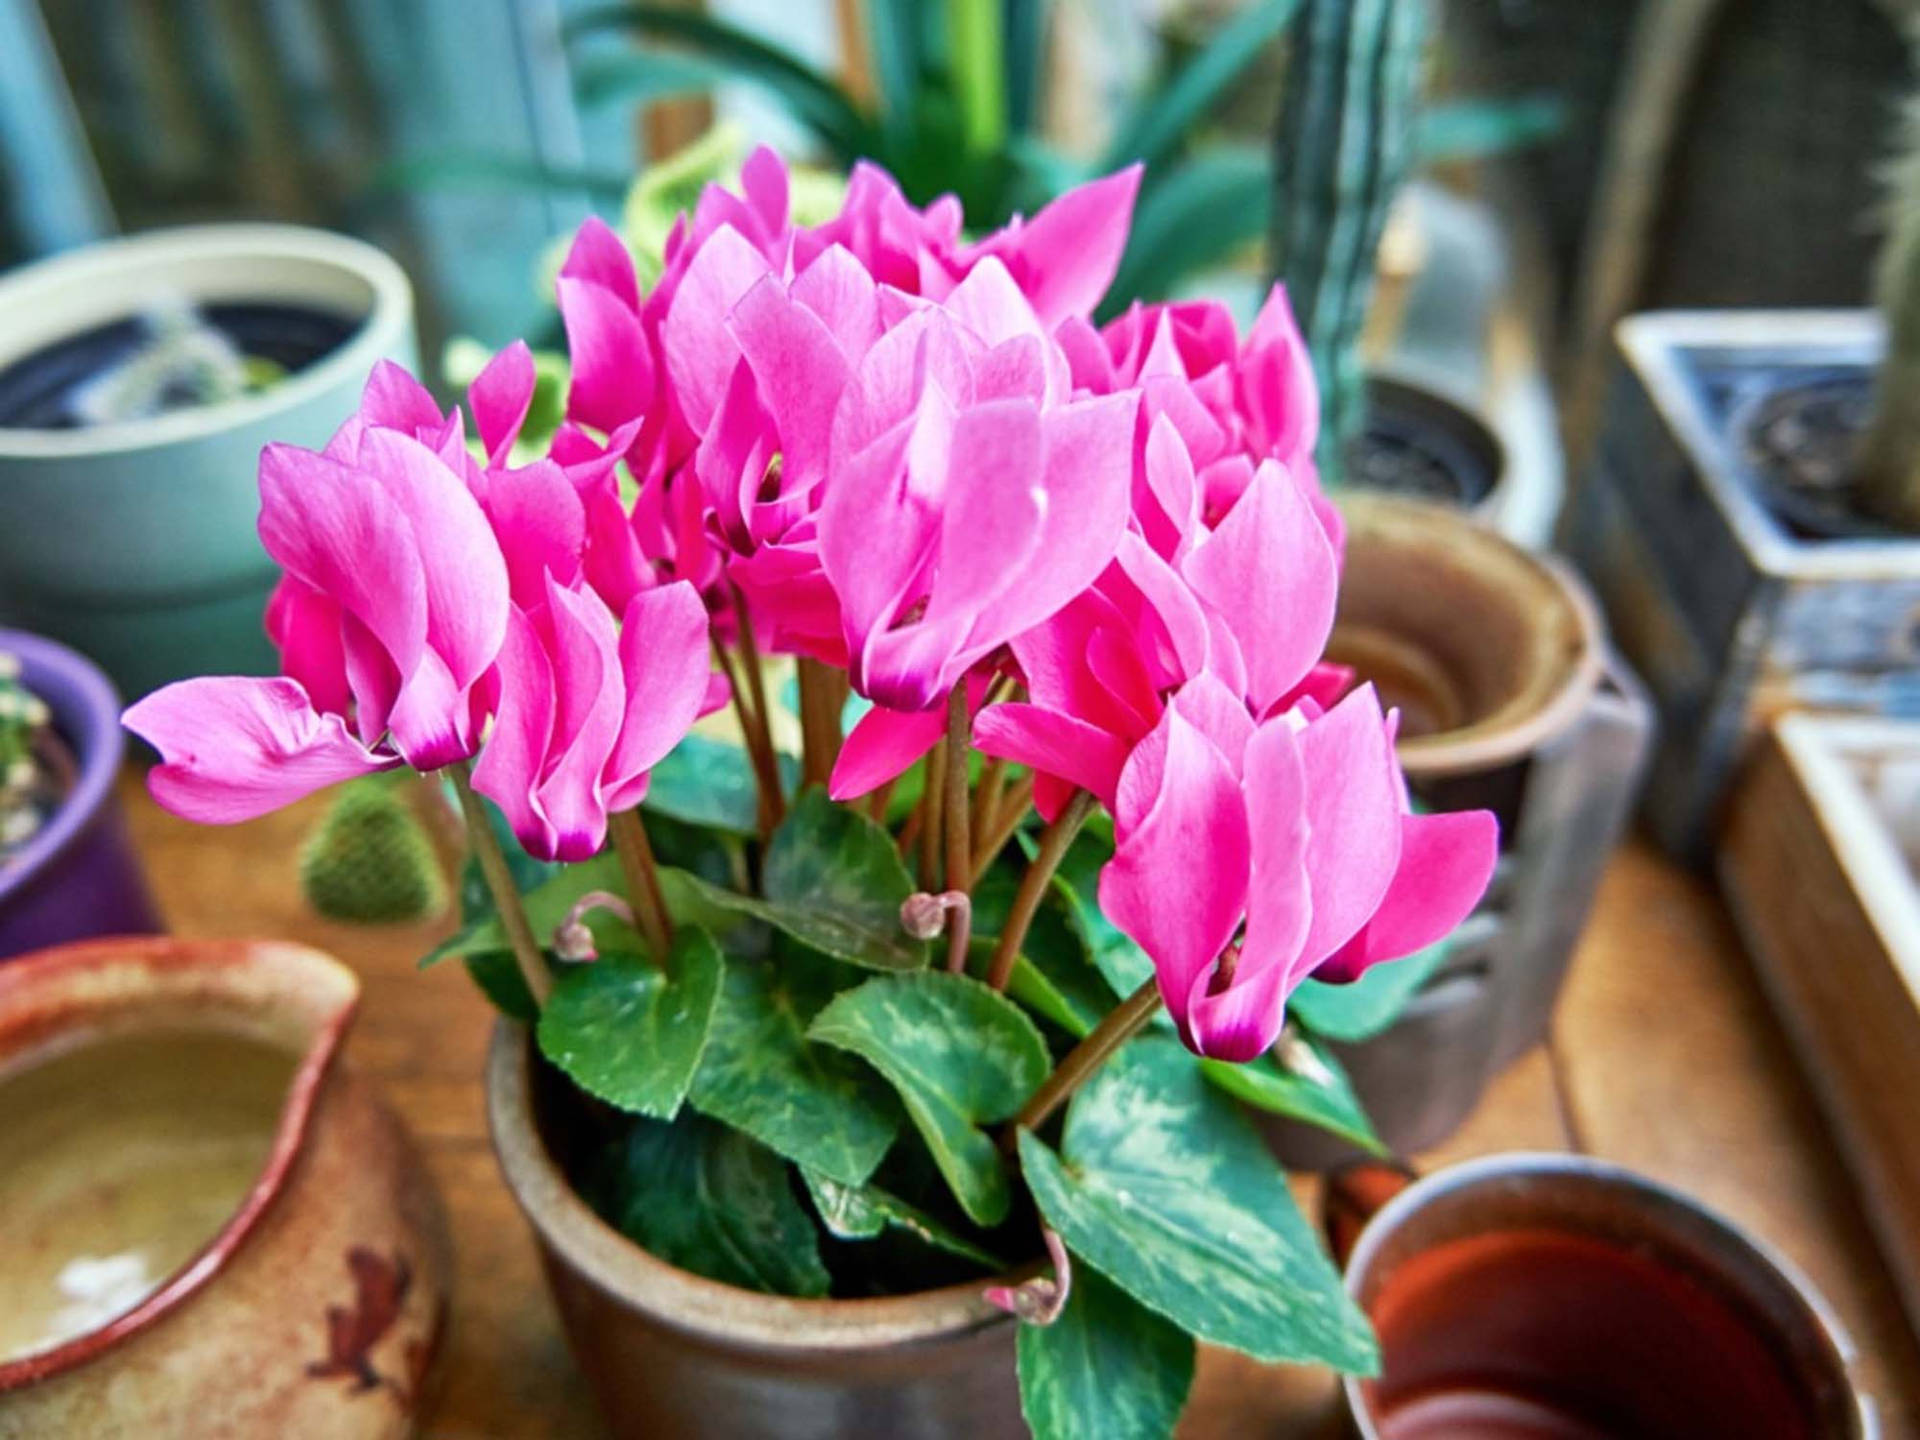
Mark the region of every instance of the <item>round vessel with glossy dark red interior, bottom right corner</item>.
[[1874, 1440], [1857, 1352], [1788, 1261], [1586, 1156], [1486, 1156], [1329, 1185], [1327, 1233], [1380, 1336], [1344, 1382], [1359, 1440], [1453, 1434]]

